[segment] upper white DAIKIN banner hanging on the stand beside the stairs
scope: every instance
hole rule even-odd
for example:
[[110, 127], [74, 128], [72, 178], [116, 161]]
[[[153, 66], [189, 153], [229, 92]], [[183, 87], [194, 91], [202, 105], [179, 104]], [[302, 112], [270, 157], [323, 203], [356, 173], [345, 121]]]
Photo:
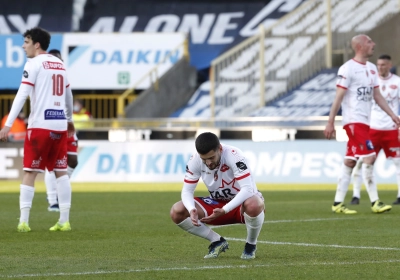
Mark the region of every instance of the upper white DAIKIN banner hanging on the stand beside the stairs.
[[[171, 53], [158, 77], [170, 69], [183, 56], [184, 40], [184, 33], [66, 33], [62, 54], [72, 89], [127, 89]], [[137, 88], [149, 86], [146, 79]]]

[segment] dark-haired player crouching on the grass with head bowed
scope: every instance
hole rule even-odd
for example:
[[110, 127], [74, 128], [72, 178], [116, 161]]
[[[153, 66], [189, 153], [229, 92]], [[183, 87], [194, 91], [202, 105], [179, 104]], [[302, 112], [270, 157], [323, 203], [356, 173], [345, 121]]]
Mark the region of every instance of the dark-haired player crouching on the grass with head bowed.
[[[181, 198], [171, 208], [171, 219], [181, 229], [211, 242], [204, 258], [216, 258], [228, 242], [209, 225], [245, 223], [247, 240], [242, 259], [254, 259], [257, 238], [264, 223], [264, 199], [242, 151], [220, 144], [210, 132], [195, 141], [197, 153], [187, 166]], [[194, 197], [200, 177], [210, 196]]]

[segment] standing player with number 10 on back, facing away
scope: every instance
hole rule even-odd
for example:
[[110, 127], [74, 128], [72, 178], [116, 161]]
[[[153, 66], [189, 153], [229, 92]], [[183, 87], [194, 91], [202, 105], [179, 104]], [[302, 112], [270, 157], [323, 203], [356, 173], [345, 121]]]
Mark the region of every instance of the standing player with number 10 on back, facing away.
[[64, 63], [46, 53], [50, 34], [35, 27], [24, 34], [24, 49], [30, 58], [24, 67], [22, 82], [11, 107], [6, 126], [0, 131], [0, 140], [7, 133], [27, 97], [31, 100], [28, 132], [24, 142], [24, 174], [20, 186], [21, 215], [18, 232], [29, 232], [29, 214], [34, 196], [34, 183], [39, 172], [55, 171], [60, 204], [60, 219], [50, 231], [69, 231], [71, 185], [67, 174], [67, 133], [75, 131], [72, 122], [72, 92]]

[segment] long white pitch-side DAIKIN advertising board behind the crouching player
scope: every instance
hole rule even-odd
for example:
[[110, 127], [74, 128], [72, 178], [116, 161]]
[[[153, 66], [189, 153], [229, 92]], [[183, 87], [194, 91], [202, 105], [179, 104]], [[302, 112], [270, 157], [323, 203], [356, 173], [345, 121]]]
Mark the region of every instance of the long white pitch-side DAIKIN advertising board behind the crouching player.
[[[344, 142], [223, 141], [240, 148], [259, 183], [336, 183], [346, 151]], [[193, 140], [110, 143], [80, 141], [75, 182], [183, 182]], [[379, 154], [377, 183], [396, 183], [395, 167]]]

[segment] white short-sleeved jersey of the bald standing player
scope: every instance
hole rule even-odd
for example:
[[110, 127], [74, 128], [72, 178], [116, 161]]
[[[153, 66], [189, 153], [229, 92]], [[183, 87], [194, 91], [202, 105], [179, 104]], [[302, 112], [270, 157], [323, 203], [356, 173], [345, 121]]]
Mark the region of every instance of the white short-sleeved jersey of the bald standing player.
[[359, 63], [354, 59], [343, 64], [338, 71], [336, 86], [346, 89], [342, 101], [342, 124], [370, 124], [374, 88], [378, 87], [375, 64]]

